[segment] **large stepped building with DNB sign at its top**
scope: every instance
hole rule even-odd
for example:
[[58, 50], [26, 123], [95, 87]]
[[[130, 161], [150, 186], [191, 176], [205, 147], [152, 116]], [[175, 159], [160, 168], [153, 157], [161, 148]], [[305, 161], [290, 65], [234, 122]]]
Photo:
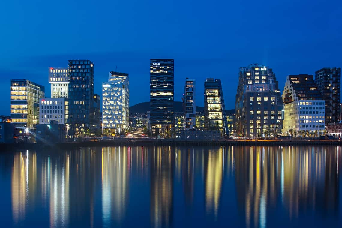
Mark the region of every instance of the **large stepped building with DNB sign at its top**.
[[281, 110], [280, 90], [272, 69], [258, 64], [240, 67], [235, 100], [236, 134], [251, 138], [280, 135]]

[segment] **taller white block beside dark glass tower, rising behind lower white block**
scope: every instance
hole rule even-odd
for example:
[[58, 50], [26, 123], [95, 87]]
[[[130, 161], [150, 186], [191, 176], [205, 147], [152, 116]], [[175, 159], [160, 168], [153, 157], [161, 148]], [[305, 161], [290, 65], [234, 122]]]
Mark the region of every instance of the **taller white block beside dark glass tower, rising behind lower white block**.
[[68, 98], [69, 69], [50, 67], [49, 83], [51, 84], [51, 98]]

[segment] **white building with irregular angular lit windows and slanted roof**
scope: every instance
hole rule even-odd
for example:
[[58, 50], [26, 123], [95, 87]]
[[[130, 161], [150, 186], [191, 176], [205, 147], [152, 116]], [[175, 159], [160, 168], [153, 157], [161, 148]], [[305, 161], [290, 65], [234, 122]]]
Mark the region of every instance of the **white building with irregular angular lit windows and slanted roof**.
[[129, 126], [129, 75], [111, 71], [102, 83], [102, 124], [112, 132]]

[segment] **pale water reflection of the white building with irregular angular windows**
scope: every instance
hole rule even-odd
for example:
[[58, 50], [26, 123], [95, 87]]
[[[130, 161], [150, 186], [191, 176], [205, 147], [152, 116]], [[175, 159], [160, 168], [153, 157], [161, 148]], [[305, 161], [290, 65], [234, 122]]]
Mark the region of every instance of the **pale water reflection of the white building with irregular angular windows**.
[[129, 198], [131, 147], [102, 148], [102, 220], [123, 220]]

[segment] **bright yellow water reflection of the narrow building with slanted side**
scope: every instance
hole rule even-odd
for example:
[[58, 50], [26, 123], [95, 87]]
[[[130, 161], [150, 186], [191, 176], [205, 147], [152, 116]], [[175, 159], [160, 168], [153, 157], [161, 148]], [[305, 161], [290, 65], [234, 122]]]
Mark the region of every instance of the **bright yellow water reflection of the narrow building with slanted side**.
[[206, 213], [218, 216], [221, 188], [223, 181], [223, 147], [205, 151], [204, 154], [204, 185]]

